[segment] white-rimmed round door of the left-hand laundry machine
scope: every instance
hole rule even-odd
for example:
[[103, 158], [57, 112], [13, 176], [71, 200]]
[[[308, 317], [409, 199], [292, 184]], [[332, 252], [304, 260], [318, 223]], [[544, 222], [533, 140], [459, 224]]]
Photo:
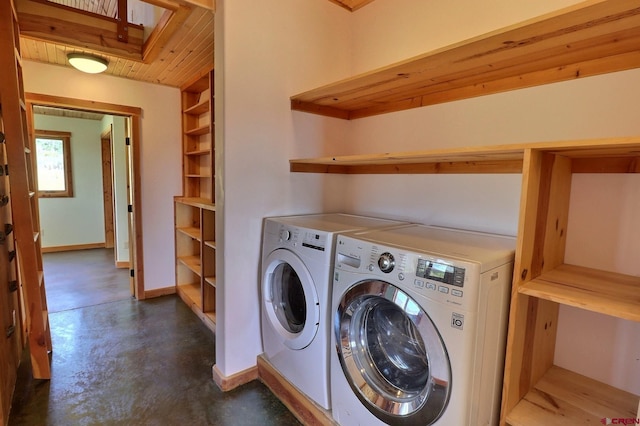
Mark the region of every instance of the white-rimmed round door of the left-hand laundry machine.
[[308, 346], [318, 331], [320, 308], [307, 267], [289, 250], [278, 249], [265, 260], [262, 281], [263, 308], [284, 344]]

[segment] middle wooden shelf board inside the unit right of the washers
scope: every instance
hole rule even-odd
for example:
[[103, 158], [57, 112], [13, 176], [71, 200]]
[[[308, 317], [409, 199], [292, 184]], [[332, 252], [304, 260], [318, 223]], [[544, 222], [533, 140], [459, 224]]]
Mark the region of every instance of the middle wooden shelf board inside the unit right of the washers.
[[563, 264], [523, 284], [520, 293], [640, 321], [640, 277]]

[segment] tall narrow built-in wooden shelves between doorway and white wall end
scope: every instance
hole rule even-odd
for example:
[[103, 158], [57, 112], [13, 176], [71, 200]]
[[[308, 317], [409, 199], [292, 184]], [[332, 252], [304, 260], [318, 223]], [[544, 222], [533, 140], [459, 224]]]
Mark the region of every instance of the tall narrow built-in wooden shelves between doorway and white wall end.
[[215, 331], [213, 70], [182, 88], [183, 195], [175, 197], [176, 292]]

